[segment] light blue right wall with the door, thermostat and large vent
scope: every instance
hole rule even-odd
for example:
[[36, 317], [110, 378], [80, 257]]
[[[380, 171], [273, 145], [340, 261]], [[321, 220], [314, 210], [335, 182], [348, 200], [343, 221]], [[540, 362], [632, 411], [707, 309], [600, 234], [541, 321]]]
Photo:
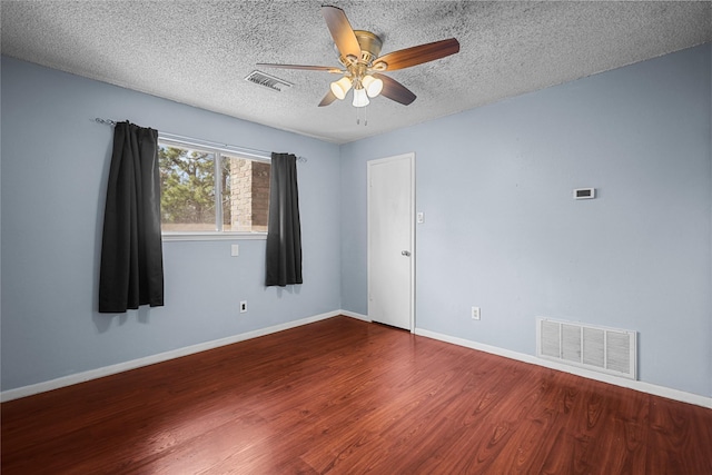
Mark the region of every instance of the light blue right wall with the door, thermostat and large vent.
[[[710, 58], [342, 147], [344, 308], [367, 313], [366, 161], [415, 151], [416, 327], [527, 355], [537, 316], [632, 329], [640, 379], [712, 396]], [[599, 198], [573, 200], [581, 187]]]

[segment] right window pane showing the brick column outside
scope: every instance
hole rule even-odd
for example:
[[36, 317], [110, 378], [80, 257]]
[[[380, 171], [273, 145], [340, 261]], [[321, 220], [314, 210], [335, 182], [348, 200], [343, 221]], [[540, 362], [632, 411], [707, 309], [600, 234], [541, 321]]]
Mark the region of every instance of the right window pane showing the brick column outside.
[[270, 164], [229, 156], [224, 156], [222, 160], [222, 182], [229, 182], [222, 189], [225, 230], [266, 232]]

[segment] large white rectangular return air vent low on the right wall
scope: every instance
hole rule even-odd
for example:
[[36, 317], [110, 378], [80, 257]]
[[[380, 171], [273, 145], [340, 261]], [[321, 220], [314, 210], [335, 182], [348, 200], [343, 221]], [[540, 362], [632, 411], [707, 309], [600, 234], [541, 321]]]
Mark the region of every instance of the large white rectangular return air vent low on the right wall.
[[536, 356], [636, 379], [637, 334], [572, 321], [536, 319]]

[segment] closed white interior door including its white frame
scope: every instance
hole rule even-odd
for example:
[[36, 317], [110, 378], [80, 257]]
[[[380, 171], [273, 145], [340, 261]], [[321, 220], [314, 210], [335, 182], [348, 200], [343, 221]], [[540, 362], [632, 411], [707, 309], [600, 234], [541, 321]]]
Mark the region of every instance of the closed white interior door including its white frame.
[[368, 318], [415, 329], [415, 154], [368, 162]]

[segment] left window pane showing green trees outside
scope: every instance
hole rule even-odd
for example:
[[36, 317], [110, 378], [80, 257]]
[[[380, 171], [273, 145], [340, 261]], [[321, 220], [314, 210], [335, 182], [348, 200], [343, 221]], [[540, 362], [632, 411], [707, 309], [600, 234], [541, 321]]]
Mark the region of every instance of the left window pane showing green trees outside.
[[161, 229], [215, 231], [215, 154], [160, 145]]

